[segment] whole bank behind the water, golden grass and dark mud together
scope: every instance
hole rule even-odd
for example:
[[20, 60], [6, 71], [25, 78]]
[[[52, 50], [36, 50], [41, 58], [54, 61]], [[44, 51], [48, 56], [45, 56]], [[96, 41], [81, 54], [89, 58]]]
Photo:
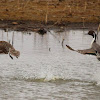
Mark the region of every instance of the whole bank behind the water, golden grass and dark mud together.
[[99, 0], [0, 0], [0, 28], [5, 31], [96, 30], [99, 23]]

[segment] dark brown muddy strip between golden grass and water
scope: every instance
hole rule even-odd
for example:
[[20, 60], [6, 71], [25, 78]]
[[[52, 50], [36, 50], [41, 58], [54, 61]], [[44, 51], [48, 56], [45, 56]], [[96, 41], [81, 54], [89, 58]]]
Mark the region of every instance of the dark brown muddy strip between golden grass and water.
[[34, 21], [24, 21], [24, 20], [3, 20], [0, 21], [0, 29], [3, 29], [5, 31], [7, 30], [14, 30], [14, 31], [38, 31], [41, 28], [46, 29], [47, 31], [49, 29], [54, 28], [64, 28], [67, 29], [90, 29], [90, 30], [97, 30], [99, 23], [69, 23], [69, 22], [62, 22], [60, 24], [55, 24], [53, 22], [50, 22], [48, 24], [40, 23], [40, 22], [34, 22]]

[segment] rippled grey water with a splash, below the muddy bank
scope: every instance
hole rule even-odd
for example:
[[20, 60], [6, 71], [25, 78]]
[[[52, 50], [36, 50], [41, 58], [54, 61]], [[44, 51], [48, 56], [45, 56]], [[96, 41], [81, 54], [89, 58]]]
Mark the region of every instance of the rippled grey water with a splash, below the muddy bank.
[[[21, 52], [14, 60], [0, 55], [0, 100], [100, 100], [100, 62], [95, 56], [70, 51], [90, 48], [88, 30], [4, 32]], [[64, 40], [62, 45], [62, 40]]]

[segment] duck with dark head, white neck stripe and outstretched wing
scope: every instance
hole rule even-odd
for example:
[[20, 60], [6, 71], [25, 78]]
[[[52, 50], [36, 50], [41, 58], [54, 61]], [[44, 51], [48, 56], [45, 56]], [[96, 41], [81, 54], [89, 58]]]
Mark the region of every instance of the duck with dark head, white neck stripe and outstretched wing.
[[91, 35], [93, 37], [93, 40], [91, 42], [91, 48], [84, 50], [74, 50], [69, 45], [66, 45], [66, 47], [72, 51], [76, 51], [81, 54], [95, 55], [100, 61], [100, 45], [96, 43], [97, 34], [94, 31], [89, 31], [88, 35]]

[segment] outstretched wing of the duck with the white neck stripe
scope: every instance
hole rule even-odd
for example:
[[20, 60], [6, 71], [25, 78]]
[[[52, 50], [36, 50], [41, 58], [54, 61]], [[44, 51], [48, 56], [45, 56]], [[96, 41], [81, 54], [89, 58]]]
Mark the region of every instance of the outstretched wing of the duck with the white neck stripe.
[[71, 48], [69, 45], [66, 45], [66, 47], [72, 51], [76, 51], [78, 53], [81, 54], [88, 54], [88, 55], [95, 55], [96, 56], [96, 52], [94, 51], [93, 48], [90, 49], [84, 49], [84, 50], [74, 50], [73, 48]]

